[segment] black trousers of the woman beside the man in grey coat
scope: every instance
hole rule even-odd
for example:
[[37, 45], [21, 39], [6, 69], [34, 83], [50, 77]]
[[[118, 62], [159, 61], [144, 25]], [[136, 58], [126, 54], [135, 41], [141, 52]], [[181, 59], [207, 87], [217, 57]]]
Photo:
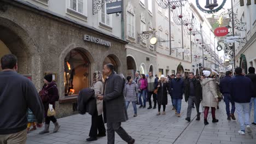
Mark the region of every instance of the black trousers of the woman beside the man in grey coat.
[[98, 134], [106, 134], [105, 125], [103, 122], [102, 115], [98, 116], [97, 112], [95, 115], [91, 116], [91, 129], [89, 136], [97, 137]]

